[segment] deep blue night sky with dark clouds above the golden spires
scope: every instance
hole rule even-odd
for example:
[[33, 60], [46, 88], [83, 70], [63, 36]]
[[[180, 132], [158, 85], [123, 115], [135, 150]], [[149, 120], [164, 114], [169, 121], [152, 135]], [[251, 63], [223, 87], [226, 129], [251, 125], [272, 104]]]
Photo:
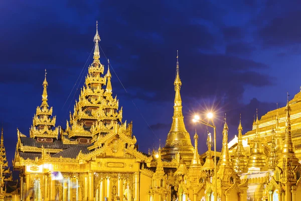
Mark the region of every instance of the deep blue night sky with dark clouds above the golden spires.
[[[177, 50], [187, 130], [193, 136], [193, 115], [214, 108], [220, 150], [224, 113], [232, 139], [240, 113], [245, 133], [256, 108], [262, 116], [276, 103], [283, 107], [287, 91], [291, 98], [299, 91], [300, 9], [299, 1], [264, 0], [2, 1], [0, 122], [10, 165], [17, 128], [29, 136], [41, 105], [45, 68], [48, 103], [65, 128], [84, 84], [96, 20], [100, 46], [127, 91], [111, 70], [113, 95], [123, 121], [133, 121], [139, 150], [158, 148], [159, 139], [165, 144]], [[197, 130], [203, 153], [206, 128]]]

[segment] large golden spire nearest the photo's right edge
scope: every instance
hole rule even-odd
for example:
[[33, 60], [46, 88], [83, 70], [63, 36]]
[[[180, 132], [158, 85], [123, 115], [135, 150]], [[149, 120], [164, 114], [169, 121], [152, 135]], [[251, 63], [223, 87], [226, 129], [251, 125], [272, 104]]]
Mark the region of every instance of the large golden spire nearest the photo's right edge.
[[296, 158], [295, 152], [294, 152], [294, 145], [292, 143], [291, 139], [291, 127], [290, 127], [290, 107], [288, 104], [288, 93], [287, 93], [287, 103], [285, 106], [285, 138], [283, 143], [283, 149], [282, 153], [280, 155], [280, 159], [278, 161], [278, 167], [282, 169], [282, 174], [280, 176], [280, 179], [282, 182], [288, 182], [288, 181], [295, 181], [296, 175], [294, 172], [294, 169], [296, 166], [300, 165], [298, 163], [298, 159]]

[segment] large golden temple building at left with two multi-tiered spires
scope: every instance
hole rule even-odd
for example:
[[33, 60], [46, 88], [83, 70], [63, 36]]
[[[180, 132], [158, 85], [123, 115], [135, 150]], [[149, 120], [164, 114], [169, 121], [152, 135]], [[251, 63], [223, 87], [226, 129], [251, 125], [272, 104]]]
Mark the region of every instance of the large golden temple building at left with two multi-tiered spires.
[[22, 200], [147, 200], [154, 172], [143, 167], [153, 158], [137, 151], [132, 124], [121, 122], [99, 41], [96, 25], [94, 59], [66, 129], [55, 128], [50, 118], [45, 77], [30, 137], [17, 132], [13, 165], [20, 170]]

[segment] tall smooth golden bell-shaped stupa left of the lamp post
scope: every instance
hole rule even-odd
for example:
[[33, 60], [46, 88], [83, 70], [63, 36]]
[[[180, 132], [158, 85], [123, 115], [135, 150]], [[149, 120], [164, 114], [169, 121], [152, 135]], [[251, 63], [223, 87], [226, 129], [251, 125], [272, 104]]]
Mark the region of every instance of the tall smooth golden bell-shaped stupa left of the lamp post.
[[179, 55], [177, 51], [177, 68], [175, 78], [175, 105], [174, 116], [171, 130], [167, 136], [165, 147], [162, 150], [162, 158], [172, 160], [176, 153], [180, 152], [184, 161], [190, 165], [193, 158], [194, 148], [191, 144], [190, 135], [184, 124], [184, 116], [182, 114], [182, 99], [180, 89], [182, 82], [179, 73]]

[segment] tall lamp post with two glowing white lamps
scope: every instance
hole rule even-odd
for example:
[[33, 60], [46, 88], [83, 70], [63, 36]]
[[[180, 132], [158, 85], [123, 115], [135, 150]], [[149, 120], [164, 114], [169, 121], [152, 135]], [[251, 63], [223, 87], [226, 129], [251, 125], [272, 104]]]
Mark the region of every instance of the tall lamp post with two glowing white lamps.
[[208, 113], [208, 114], [207, 114], [207, 118], [211, 120], [212, 125], [209, 124], [209, 123], [207, 123], [207, 122], [205, 122], [204, 120], [202, 120], [202, 119], [200, 118], [200, 116], [198, 116], [198, 115], [195, 115], [195, 116], [194, 116], [194, 119], [193, 119], [192, 121], [195, 122], [195, 123], [198, 122], [198, 123], [200, 123], [200, 124], [204, 124], [204, 125], [206, 125], [206, 126], [209, 126], [209, 127], [213, 128], [213, 132], [214, 132], [214, 182], [215, 182], [215, 191], [214, 191], [215, 195], [214, 195], [214, 201], [217, 201], [217, 180], [216, 180], [216, 173], [217, 173], [217, 172], [216, 172], [216, 127], [215, 127], [215, 124], [214, 124], [214, 122], [213, 122], [213, 114], [212, 114], [212, 113]]

